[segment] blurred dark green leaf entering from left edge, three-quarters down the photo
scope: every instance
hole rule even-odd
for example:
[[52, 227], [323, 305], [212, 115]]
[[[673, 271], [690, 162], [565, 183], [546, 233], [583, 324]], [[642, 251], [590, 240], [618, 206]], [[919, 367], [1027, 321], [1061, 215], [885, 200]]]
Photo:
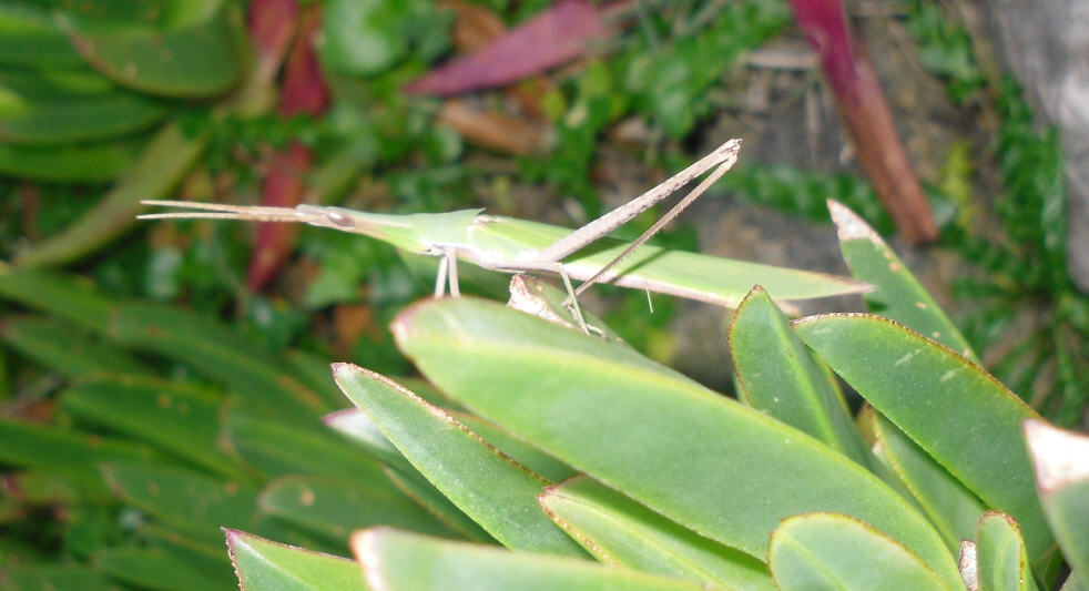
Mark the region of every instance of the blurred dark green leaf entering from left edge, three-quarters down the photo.
[[0, 419], [0, 460], [4, 463], [55, 470], [101, 489], [99, 465], [106, 461], [151, 461], [144, 446], [35, 422]]

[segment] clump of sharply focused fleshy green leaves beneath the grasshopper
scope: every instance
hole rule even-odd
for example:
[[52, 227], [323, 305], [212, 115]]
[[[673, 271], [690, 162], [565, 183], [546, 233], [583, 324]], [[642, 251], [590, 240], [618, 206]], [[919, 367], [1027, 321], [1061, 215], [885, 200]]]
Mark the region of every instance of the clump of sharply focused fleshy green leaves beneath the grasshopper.
[[[472, 418], [336, 364], [359, 410], [335, 424], [510, 551], [373, 528], [352, 536], [354, 578], [231, 530], [243, 588], [1026, 590], [1066, 562], [1076, 589], [1089, 438], [981, 369], [884, 242], [831, 207], [883, 315], [791, 322], [755, 287], [730, 326], [736, 400], [496, 303], [405, 310], [398, 346]], [[828, 368], [865, 399], [856, 417]]]

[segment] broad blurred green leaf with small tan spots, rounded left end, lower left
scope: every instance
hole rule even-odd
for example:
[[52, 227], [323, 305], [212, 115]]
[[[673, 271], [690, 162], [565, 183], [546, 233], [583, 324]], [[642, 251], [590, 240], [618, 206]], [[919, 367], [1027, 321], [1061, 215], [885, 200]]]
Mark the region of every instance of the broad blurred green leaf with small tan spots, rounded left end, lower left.
[[244, 476], [220, 449], [220, 397], [214, 393], [153, 378], [105, 377], [69, 388], [61, 405], [73, 415], [153, 442], [203, 468]]

